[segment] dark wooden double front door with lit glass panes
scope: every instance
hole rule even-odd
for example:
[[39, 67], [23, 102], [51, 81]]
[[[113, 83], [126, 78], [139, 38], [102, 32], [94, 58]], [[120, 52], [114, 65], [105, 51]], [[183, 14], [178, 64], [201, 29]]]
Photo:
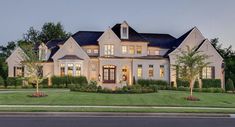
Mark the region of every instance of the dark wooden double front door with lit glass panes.
[[116, 67], [113, 65], [103, 66], [103, 82], [115, 83], [116, 80]]

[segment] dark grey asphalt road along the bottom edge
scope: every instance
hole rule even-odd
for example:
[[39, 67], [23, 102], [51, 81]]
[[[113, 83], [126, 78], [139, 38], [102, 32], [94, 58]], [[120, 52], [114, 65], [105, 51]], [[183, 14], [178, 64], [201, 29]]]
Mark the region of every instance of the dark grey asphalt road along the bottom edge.
[[0, 127], [235, 127], [235, 119], [149, 116], [0, 116]]

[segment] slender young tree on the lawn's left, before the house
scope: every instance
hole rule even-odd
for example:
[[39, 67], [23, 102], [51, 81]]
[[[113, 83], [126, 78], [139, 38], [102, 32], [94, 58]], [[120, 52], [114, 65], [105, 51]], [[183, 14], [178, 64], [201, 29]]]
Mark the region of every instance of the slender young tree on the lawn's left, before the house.
[[29, 83], [36, 84], [36, 96], [39, 95], [39, 83], [43, 81], [42, 65], [33, 44], [21, 45], [21, 56], [24, 59], [22, 65], [26, 68], [25, 78]]

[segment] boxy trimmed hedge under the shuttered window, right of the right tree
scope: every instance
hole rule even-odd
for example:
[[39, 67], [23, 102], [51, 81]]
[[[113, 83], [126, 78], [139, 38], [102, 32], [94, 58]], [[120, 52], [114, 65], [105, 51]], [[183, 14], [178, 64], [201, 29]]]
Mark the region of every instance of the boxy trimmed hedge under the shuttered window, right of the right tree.
[[202, 79], [202, 88], [221, 88], [220, 79]]

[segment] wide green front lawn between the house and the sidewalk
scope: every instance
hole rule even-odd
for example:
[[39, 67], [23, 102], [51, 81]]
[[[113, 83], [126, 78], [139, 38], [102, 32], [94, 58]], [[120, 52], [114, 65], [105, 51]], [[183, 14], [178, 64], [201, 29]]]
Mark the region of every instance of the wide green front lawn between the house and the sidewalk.
[[185, 91], [159, 91], [149, 94], [102, 94], [44, 90], [48, 97], [30, 98], [29, 92], [0, 93], [0, 105], [106, 105], [106, 106], [202, 106], [233, 107], [235, 94], [194, 93], [201, 101], [187, 101]]

